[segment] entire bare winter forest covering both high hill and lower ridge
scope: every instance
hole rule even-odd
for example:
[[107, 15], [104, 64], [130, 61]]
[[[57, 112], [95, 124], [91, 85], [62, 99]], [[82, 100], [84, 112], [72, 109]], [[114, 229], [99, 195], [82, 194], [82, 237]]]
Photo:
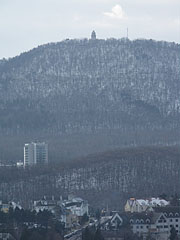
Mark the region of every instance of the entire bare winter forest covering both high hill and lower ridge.
[[132, 196], [175, 194], [179, 51], [153, 40], [82, 39], [1, 60], [0, 162], [22, 160], [24, 143], [42, 140], [50, 164], [1, 167], [0, 199], [31, 205], [73, 193], [122, 209]]

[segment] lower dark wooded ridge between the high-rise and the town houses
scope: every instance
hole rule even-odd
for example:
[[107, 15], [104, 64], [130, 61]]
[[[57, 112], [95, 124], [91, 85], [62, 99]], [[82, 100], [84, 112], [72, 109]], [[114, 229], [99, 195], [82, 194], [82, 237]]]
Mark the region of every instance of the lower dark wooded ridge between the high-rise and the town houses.
[[1, 168], [0, 199], [20, 201], [74, 194], [95, 208], [121, 209], [129, 197], [180, 194], [178, 147], [125, 148], [44, 168]]

